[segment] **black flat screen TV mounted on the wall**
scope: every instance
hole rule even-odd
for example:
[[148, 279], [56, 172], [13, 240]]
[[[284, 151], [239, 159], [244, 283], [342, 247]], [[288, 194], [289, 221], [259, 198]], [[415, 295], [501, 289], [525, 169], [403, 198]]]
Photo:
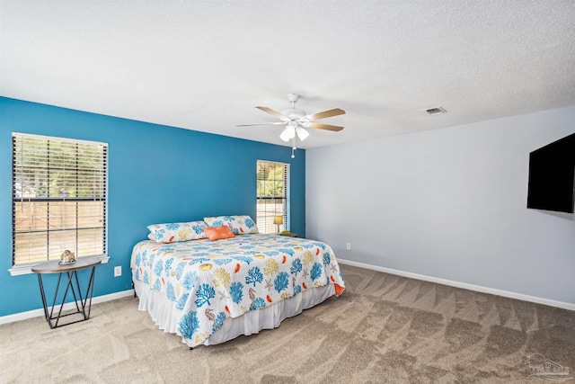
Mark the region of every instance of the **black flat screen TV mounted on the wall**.
[[527, 208], [573, 213], [575, 133], [529, 154]]

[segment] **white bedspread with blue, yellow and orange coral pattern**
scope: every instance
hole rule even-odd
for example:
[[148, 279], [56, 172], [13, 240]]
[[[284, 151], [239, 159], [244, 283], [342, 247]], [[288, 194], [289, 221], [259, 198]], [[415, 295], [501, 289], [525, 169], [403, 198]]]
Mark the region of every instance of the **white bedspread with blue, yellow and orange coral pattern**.
[[[335, 284], [345, 290], [332, 248], [303, 238], [243, 235], [172, 244], [134, 246], [133, 277], [173, 300], [182, 310], [179, 329], [198, 345], [226, 317], [267, 307], [302, 290]], [[189, 343], [190, 341], [191, 343]]]

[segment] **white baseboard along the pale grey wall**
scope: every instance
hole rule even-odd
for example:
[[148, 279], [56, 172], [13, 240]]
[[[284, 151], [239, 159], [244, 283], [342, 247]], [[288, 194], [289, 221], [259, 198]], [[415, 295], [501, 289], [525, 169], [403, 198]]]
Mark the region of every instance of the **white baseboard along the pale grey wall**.
[[531, 302], [534, 302], [537, 304], [543, 304], [546, 306], [569, 309], [569, 310], [575, 311], [575, 304], [566, 303], [563, 301], [551, 300], [551, 299], [537, 298], [535, 296], [524, 295], [522, 293], [510, 292], [509, 290], [496, 290], [493, 288], [482, 287], [481, 285], [468, 284], [466, 282], [439, 279], [437, 277], [426, 276], [424, 274], [403, 272], [403, 271], [394, 270], [391, 268], [380, 267], [377, 265], [352, 262], [350, 260], [340, 259], [339, 257], [338, 257], [338, 263], [348, 264], [351, 266], [355, 266], [355, 267], [359, 267], [359, 268], [365, 268], [365, 269], [372, 270], [372, 271], [396, 274], [398, 276], [409, 277], [411, 279], [437, 282], [438, 284], [449, 285], [449, 286], [456, 287], [456, 288], [463, 288], [464, 290], [475, 290], [477, 292], [490, 293], [491, 295], [498, 295], [498, 296], [502, 296], [504, 298], [518, 299], [518, 300], [523, 300], [523, 301], [531, 301]]

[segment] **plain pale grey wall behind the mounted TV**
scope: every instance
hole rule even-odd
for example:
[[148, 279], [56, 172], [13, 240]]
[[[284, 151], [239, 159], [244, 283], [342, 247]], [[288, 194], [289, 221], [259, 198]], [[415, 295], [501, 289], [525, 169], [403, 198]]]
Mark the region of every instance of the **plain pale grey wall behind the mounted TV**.
[[306, 237], [343, 260], [575, 305], [574, 215], [526, 209], [529, 152], [573, 132], [570, 107], [308, 149]]

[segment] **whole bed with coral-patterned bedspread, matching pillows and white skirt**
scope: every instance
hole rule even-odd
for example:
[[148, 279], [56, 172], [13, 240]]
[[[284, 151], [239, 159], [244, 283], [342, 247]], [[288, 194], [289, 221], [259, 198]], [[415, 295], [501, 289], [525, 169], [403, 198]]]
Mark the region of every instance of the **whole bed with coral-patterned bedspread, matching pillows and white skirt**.
[[[148, 228], [132, 251], [138, 309], [190, 348], [278, 327], [345, 290], [330, 246], [258, 234], [249, 217]], [[229, 230], [211, 236], [212, 228]]]

